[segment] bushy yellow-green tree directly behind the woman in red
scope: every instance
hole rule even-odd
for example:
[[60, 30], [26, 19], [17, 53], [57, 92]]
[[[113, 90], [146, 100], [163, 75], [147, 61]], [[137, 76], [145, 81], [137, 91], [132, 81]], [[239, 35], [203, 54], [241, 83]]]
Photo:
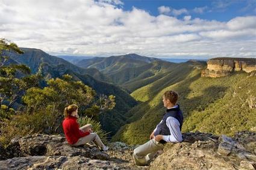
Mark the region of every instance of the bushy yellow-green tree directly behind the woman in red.
[[95, 91], [80, 81], [73, 81], [69, 75], [64, 75], [63, 79], [49, 79], [47, 83], [45, 88], [28, 89], [22, 99], [27, 105], [27, 114], [45, 112], [51, 115], [44, 121], [49, 127], [48, 133], [56, 133], [63, 120], [63, 108], [76, 104], [83, 110], [92, 103]]

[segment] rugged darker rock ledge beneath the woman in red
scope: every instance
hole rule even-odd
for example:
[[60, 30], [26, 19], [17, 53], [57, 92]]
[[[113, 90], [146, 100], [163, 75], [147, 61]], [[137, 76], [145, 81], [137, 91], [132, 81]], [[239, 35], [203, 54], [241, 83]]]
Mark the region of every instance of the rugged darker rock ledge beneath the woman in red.
[[72, 147], [60, 135], [13, 139], [5, 150], [0, 148], [0, 158], [5, 159], [0, 161], [0, 169], [140, 169], [93, 144]]

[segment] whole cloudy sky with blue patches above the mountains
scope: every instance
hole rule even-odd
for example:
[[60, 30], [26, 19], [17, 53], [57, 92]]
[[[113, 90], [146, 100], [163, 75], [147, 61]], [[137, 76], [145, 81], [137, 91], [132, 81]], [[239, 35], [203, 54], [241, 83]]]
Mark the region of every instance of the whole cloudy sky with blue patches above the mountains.
[[0, 0], [0, 38], [52, 55], [256, 58], [256, 1]]

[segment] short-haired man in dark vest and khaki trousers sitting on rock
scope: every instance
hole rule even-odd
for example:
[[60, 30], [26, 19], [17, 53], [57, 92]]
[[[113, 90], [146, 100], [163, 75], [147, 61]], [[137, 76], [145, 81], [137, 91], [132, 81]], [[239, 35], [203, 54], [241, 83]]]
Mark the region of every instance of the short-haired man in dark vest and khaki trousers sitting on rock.
[[157, 127], [150, 135], [150, 141], [137, 147], [133, 152], [135, 164], [146, 166], [154, 158], [157, 151], [163, 151], [166, 142], [183, 141], [181, 126], [183, 125], [183, 112], [177, 105], [178, 94], [175, 91], [166, 91], [163, 95], [163, 104], [166, 113]]

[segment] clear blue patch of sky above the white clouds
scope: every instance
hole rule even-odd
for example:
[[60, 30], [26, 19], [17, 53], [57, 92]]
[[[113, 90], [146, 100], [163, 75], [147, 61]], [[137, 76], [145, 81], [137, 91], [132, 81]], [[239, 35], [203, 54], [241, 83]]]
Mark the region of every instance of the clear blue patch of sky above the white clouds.
[[[255, 0], [229, 0], [229, 1], [182, 1], [182, 0], [125, 0], [123, 2], [123, 9], [132, 10], [133, 7], [148, 11], [154, 16], [158, 16], [159, 11], [157, 7], [165, 6], [170, 9], [181, 10], [185, 8], [190, 11], [189, 14], [193, 17], [200, 17], [201, 19], [228, 21], [237, 16], [250, 16], [256, 14]], [[202, 13], [195, 13], [193, 9], [202, 8]], [[186, 14], [181, 14], [178, 18], [184, 17]]]

